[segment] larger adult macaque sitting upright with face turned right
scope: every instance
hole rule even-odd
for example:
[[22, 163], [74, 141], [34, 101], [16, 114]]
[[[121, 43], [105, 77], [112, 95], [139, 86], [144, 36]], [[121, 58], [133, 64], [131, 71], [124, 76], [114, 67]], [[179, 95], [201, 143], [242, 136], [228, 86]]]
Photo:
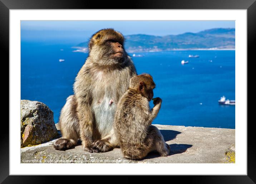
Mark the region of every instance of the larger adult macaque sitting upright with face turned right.
[[124, 37], [113, 29], [96, 32], [89, 41], [89, 56], [78, 72], [74, 95], [61, 109], [59, 125], [63, 137], [53, 144], [65, 150], [82, 140], [88, 152], [107, 152], [118, 145], [113, 130], [116, 105], [137, 75], [124, 50]]

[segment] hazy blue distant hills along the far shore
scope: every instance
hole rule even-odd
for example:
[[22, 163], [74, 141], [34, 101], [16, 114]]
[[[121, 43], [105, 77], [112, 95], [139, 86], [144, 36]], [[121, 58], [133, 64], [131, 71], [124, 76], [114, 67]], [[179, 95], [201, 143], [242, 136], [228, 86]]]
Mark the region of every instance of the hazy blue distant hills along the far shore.
[[[88, 42], [82, 42], [82, 52]], [[153, 35], [127, 35], [125, 36], [127, 52], [157, 52], [179, 49], [233, 49], [235, 48], [235, 29], [216, 28], [197, 33], [186, 32], [180, 35], [153, 36]], [[77, 50], [79, 52], [79, 50]]]

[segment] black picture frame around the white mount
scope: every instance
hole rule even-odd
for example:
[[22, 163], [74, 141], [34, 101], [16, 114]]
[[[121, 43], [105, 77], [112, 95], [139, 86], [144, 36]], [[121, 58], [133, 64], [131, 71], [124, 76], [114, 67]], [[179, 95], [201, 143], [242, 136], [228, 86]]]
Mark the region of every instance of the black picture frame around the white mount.
[[[0, 46], [2, 54], [9, 60], [9, 10], [11, 9], [246, 9], [247, 10], [247, 61], [255, 60], [255, 50], [253, 46], [256, 40], [256, 0], [129, 0], [121, 3], [109, 3], [108, 1], [88, 1], [88, 0], [0, 0]], [[114, 1], [113, 1], [114, 2]], [[251, 66], [251, 64], [250, 64]], [[8, 65], [9, 68], [9, 65]], [[248, 67], [247, 62], [247, 80], [253, 80], [253, 76], [248, 75], [248, 70], [253, 70], [253, 67]], [[250, 72], [251, 73], [251, 72]], [[5, 77], [6, 78], [6, 77]], [[248, 86], [247, 99], [250, 99], [250, 104], [255, 102], [255, 92], [251, 90], [255, 87]], [[7, 84], [8, 83], [8, 84]], [[9, 85], [9, 80], [3, 83]], [[255, 84], [255, 82], [254, 82]], [[9, 89], [9, 88], [8, 88]], [[10, 92], [10, 91], [9, 91]], [[10, 98], [10, 96], [9, 96]], [[11, 110], [11, 109], [10, 109]], [[175, 178], [182, 181], [188, 180], [190, 183], [255, 183], [256, 182], [256, 164], [255, 164], [255, 139], [253, 122], [248, 121], [248, 112], [252, 109], [247, 107], [247, 175], [211, 175], [211, 176], [177, 176]], [[10, 122], [9, 122], [10, 123]], [[245, 124], [246, 122], [238, 122]], [[5, 127], [3, 127], [5, 126]], [[9, 125], [2, 124], [1, 136], [1, 172], [0, 182], [3, 183], [46, 183], [52, 180], [53, 176], [14, 176], [9, 175]], [[85, 176], [88, 178], [88, 176]], [[67, 183], [72, 177], [58, 177], [59, 183]], [[97, 177], [98, 178], [98, 177]], [[109, 178], [109, 179], [108, 179]], [[113, 176], [104, 177], [104, 180], [112, 181]], [[147, 177], [151, 180], [151, 176]], [[93, 178], [92, 178], [93, 179]], [[75, 178], [79, 180], [79, 178]], [[97, 179], [98, 180], [98, 179]], [[95, 180], [97, 182], [97, 180]], [[114, 179], [115, 180], [115, 179]], [[99, 180], [98, 180], [99, 181]], [[127, 177], [125, 182], [133, 182], [133, 177]], [[73, 180], [74, 182], [74, 180]], [[86, 182], [86, 181], [85, 181]], [[88, 181], [87, 181], [88, 182]], [[123, 182], [122, 182], [123, 183]]]

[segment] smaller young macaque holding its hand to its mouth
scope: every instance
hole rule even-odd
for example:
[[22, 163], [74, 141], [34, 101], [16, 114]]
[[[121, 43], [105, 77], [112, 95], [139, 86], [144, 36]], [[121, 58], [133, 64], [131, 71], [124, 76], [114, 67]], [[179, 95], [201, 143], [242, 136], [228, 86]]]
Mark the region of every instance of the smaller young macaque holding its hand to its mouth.
[[149, 74], [133, 77], [129, 89], [118, 102], [114, 131], [125, 158], [142, 159], [151, 151], [157, 151], [161, 156], [169, 154], [169, 145], [158, 128], [151, 125], [162, 103], [157, 97], [153, 101], [154, 107], [149, 108], [155, 86]]

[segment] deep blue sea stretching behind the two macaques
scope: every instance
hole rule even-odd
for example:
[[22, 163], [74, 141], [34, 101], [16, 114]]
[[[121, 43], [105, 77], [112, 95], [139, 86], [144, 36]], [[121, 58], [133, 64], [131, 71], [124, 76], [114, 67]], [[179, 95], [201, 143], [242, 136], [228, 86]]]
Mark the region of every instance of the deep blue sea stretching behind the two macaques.
[[[54, 112], [55, 123], [66, 98], [73, 94], [74, 79], [88, 56], [72, 52], [72, 46], [21, 42], [21, 99], [45, 103]], [[136, 54], [144, 56], [132, 58], [138, 74], [153, 76], [154, 97], [163, 100], [153, 124], [235, 128], [235, 106], [218, 104], [223, 95], [235, 99], [235, 51]], [[182, 60], [189, 63], [181, 65]]]

